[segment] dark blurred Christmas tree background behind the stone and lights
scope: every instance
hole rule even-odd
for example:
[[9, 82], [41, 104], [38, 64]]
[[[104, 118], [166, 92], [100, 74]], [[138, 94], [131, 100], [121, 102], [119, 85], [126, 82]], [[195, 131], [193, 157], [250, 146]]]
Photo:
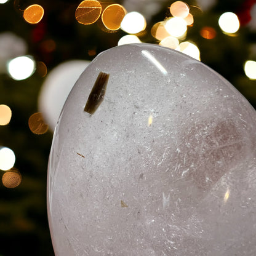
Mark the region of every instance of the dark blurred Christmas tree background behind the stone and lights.
[[[2, 2], [4, 2], [2, 0]], [[0, 104], [10, 107], [12, 118], [7, 126], [0, 126], [0, 145], [15, 152], [15, 168], [22, 174], [17, 188], [0, 185], [0, 255], [54, 255], [50, 242], [46, 209], [47, 161], [52, 132], [36, 135], [28, 126], [31, 114], [38, 112], [38, 97], [46, 79], [40, 65], [48, 71], [66, 60], [92, 60], [103, 50], [117, 46], [127, 33], [106, 31], [102, 22], [83, 25], [76, 20], [76, 8], [81, 1], [7, 1], [0, 4]], [[128, 12], [137, 11], [146, 18], [145, 30], [137, 36], [142, 42], [158, 44], [151, 34], [155, 23], [171, 17], [174, 1], [114, 1]], [[1, 3], [1, 1], [0, 1]], [[193, 15], [186, 36], [180, 42], [193, 42], [200, 50], [201, 62], [222, 74], [256, 108], [256, 82], [244, 72], [244, 63], [256, 59], [255, 0], [186, 1]], [[39, 4], [44, 16], [39, 23], [30, 24], [23, 18], [23, 10]], [[104, 4], [104, 2], [102, 2]], [[110, 4], [105, 2], [105, 5]], [[218, 25], [220, 15], [238, 15], [240, 28], [236, 33], [223, 33]], [[4, 33], [18, 38], [11, 42]], [[20, 47], [20, 48], [19, 48]], [[8, 57], [29, 54], [37, 62], [30, 78], [16, 81], [7, 74]], [[43, 66], [44, 66], [43, 65]], [[1, 171], [1, 176], [4, 171]]]

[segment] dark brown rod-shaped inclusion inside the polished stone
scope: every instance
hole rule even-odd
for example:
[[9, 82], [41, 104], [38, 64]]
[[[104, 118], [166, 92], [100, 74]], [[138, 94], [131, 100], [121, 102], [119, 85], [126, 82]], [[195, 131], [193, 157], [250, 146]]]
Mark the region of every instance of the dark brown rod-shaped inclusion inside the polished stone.
[[89, 114], [95, 113], [98, 106], [100, 106], [100, 104], [104, 100], [104, 95], [106, 92], [106, 86], [108, 84], [109, 77], [110, 74], [106, 74], [103, 72], [100, 72], [98, 74], [94, 87], [92, 87], [92, 91], [90, 92], [90, 95], [86, 102], [86, 106], [84, 107], [84, 111], [86, 111]]

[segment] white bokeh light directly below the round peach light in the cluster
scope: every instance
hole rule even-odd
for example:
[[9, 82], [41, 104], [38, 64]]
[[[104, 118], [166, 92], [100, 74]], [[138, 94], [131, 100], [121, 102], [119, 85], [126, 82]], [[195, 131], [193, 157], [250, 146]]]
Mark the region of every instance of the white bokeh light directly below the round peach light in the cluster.
[[167, 32], [175, 38], [181, 38], [187, 30], [186, 22], [183, 18], [172, 17], [164, 25]]

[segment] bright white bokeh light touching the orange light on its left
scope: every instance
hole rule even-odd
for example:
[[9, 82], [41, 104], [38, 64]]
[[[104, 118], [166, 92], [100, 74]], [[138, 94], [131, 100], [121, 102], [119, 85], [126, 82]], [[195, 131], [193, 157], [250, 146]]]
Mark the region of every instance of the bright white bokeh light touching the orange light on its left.
[[121, 29], [129, 34], [137, 34], [146, 28], [146, 20], [138, 12], [129, 12], [121, 22]]

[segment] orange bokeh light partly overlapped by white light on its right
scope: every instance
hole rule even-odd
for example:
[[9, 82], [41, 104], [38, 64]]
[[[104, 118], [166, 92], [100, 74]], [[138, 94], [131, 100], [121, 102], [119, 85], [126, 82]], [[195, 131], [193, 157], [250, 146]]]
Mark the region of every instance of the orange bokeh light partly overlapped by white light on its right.
[[108, 30], [118, 30], [126, 15], [126, 9], [120, 4], [111, 4], [102, 12], [102, 23]]

